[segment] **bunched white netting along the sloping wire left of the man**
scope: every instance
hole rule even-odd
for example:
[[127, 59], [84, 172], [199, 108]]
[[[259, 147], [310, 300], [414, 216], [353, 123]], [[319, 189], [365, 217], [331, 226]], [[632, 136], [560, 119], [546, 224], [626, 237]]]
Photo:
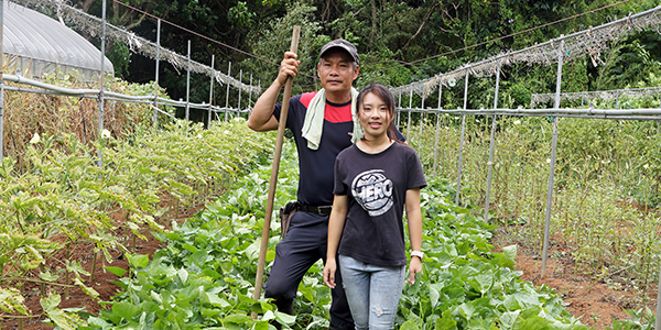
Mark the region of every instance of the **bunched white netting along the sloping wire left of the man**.
[[[64, 3], [66, 1], [61, 0], [12, 0], [12, 2], [20, 3], [22, 6], [35, 9], [41, 12], [57, 12], [66, 24], [74, 25], [78, 31], [83, 31], [93, 37], [102, 37], [102, 20], [90, 15], [79, 9]], [[136, 35], [133, 32], [126, 31], [118, 26], [106, 23], [106, 37], [111, 38], [116, 42], [124, 43], [131, 52], [140, 53], [149, 58], [160, 61], [166, 61], [172, 64], [177, 70], [186, 70], [188, 68], [188, 59], [184, 55], [180, 55], [173, 51], [161, 46], [156, 43], [151, 42], [144, 37]], [[191, 72], [212, 76], [212, 67], [191, 61]], [[229, 86], [240, 89], [246, 92], [261, 94], [259, 86], [246, 85], [231, 76], [225, 75], [220, 72], [215, 72], [215, 79], [219, 84], [228, 84]]]

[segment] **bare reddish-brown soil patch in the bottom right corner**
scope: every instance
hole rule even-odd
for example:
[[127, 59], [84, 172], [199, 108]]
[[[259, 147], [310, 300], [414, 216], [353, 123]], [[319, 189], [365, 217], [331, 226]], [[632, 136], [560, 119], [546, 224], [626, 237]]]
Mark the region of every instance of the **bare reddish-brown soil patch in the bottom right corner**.
[[[630, 287], [626, 278], [610, 277], [610, 284], [595, 280], [578, 274], [574, 270], [571, 251], [565, 246], [551, 244], [548, 252], [546, 272], [541, 276], [541, 253], [530, 246], [518, 244], [511, 235], [498, 230], [492, 240], [496, 251], [500, 248], [517, 244], [518, 253], [514, 268], [523, 272], [521, 279], [530, 280], [535, 287], [546, 285], [557, 293], [565, 308], [584, 324], [597, 330], [611, 329], [613, 320], [630, 319], [625, 309], [641, 307], [640, 294]], [[615, 284], [615, 285], [614, 285]], [[654, 311], [657, 308], [657, 287], [650, 287], [647, 293], [647, 306]]]

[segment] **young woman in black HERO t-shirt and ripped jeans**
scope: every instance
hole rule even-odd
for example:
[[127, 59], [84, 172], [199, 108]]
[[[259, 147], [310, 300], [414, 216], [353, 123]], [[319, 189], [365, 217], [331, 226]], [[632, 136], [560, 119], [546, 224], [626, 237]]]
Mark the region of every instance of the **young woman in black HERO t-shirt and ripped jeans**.
[[324, 282], [335, 287], [339, 264], [356, 329], [393, 329], [407, 265], [403, 207], [414, 283], [422, 270], [420, 188], [426, 180], [415, 151], [395, 139], [390, 90], [370, 85], [356, 105], [364, 138], [335, 161]]

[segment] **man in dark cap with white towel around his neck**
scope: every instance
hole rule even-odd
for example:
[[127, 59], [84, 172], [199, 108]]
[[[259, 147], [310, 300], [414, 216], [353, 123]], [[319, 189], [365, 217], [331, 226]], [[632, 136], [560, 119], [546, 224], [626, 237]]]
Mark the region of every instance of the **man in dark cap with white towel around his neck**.
[[[248, 120], [250, 129], [258, 132], [278, 129], [282, 105], [275, 101], [288, 76], [297, 74], [300, 63], [296, 54], [284, 53], [278, 78], [254, 103]], [[273, 298], [279, 310], [288, 314], [293, 314], [294, 297], [307, 270], [319, 258], [324, 262], [326, 258], [333, 169], [337, 154], [351, 145], [351, 84], [359, 69], [356, 46], [342, 38], [334, 40], [324, 45], [319, 54], [317, 74], [323, 89], [290, 100], [286, 127], [294, 135], [299, 152], [300, 206], [290, 219], [286, 235], [275, 249], [273, 267], [264, 284], [264, 296]], [[317, 94], [319, 97], [314, 99]], [[314, 114], [317, 114], [316, 120]], [[337, 277], [342, 280], [339, 273]], [[330, 329], [354, 329], [342, 284], [332, 290], [332, 297]]]

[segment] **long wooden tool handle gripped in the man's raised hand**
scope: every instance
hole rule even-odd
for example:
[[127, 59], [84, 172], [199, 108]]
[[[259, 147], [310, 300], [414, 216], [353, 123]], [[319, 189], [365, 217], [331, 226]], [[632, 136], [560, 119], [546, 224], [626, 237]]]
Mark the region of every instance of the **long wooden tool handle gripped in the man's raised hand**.
[[[292, 34], [291, 52], [299, 52], [299, 35], [301, 26], [294, 25]], [[282, 142], [284, 140], [284, 127], [286, 124], [286, 112], [289, 111], [289, 101], [292, 97], [292, 76], [284, 82], [284, 96], [282, 97], [282, 109], [280, 111], [280, 122], [278, 124], [278, 139], [275, 140], [275, 151], [273, 152], [273, 166], [271, 167], [271, 182], [269, 183], [269, 197], [267, 199], [267, 212], [264, 213], [264, 227], [262, 229], [262, 240], [259, 246], [259, 263], [257, 264], [257, 277], [254, 278], [254, 293], [252, 299], [258, 300], [261, 296], [262, 278], [264, 275], [264, 263], [267, 258], [267, 249], [269, 245], [269, 230], [271, 229], [271, 215], [273, 213], [273, 199], [275, 199], [275, 186], [278, 184], [278, 170], [280, 169], [280, 156], [282, 154]], [[252, 317], [257, 317], [256, 314]]]

